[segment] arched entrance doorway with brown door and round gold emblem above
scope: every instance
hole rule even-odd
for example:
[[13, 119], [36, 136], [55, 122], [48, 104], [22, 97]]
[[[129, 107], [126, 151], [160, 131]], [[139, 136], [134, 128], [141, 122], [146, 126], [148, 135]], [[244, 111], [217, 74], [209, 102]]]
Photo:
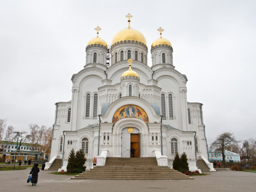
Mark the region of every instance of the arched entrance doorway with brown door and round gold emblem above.
[[140, 157], [141, 153], [141, 142], [140, 133], [137, 128], [124, 128], [122, 130], [122, 145], [121, 145], [121, 157]]

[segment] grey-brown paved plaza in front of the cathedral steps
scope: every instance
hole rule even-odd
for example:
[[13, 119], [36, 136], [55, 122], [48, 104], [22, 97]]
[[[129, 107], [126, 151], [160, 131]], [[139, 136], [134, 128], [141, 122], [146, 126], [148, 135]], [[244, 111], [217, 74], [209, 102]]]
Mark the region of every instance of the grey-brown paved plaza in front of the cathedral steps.
[[256, 173], [242, 171], [219, 171], [194, 180], [71, 180], [72, 176], [49, 174], [40, 171], [37, 186], [26, 183], [30, 169], [0, 171], [1, 191], [256, 191]]

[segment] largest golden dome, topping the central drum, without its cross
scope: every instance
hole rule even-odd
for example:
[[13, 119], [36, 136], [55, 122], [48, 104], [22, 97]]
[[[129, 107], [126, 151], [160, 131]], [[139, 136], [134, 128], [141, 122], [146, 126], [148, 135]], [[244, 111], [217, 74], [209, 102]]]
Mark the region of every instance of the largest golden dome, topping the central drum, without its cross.
[[131, 41], [138, 41], [138, 42], [141, 42], [141, 43], [144, 43], [145, 45], [147, 45], [147, 41], [144, 37], [144, 35], [135, 30], [135, 29], [132, 29], [132, 28], [127, 28], [127, 29], [123, 29], [122, 31], [119, 31], [115, 37], [113, 38], [113, 41], [112, 41], [112, 44], [115, 44], [119, 41], [128, 41], [128, 40], [131, 40]]

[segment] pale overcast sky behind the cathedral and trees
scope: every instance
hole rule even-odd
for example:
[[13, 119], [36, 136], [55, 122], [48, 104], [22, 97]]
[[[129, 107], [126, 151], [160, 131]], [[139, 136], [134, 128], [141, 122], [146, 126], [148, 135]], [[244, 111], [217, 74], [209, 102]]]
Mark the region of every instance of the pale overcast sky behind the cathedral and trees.
[[55, 103], [71, 100], [71, 76], [85, 47], [107, 44], [127, 27], [147, 39], [148, 65], [157, 29], [186, 74], [188, 102], [203, 103], [208, 144], [218, 134], [256, 138], [256, 1], [0, 1], [0, 118], [16, 130], [52, 126]]

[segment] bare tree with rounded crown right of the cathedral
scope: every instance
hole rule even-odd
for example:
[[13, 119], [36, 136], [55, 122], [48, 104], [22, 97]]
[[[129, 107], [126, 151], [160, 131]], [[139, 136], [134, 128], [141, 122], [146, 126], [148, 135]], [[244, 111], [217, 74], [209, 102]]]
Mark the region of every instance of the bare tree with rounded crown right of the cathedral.
[[237, 144], [238, 141], [235, 140], [235, 137], [232, 133], [225, 132], [219, 136], [217, 136], [216, 140], [211, 144], [212, 147], [215, 148], [215, 151], [221, 151], [222, 153], [222, 161], [225, 167], [225, 150], [228, 149], [233, 144]]

